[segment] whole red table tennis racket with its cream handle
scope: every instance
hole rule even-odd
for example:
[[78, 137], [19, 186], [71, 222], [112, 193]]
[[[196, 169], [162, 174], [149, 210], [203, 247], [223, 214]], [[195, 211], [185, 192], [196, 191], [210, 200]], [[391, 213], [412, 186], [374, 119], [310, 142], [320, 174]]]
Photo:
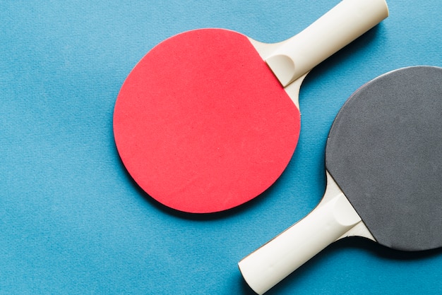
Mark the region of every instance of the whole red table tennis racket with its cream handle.
[[344, 0], [277, 44], [222, 29], [161, 42], [129, 73], [114, 107], [127, 171], [152, 198], [183, 212], [255, 198], [297, 145], [306, 73], [387, 16], [385, 0]]

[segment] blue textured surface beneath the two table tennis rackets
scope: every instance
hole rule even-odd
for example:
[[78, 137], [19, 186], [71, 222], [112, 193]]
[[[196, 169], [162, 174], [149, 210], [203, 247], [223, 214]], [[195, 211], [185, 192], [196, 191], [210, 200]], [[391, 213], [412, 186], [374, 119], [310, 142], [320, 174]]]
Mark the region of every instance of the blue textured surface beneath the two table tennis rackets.
[[[442, 2], [388, 1], [388, 19], [316, 67], [289, 167], [234, 210], [185, 215], [143, 193], [114, 145], [114, 102], [167, 37], [215, 27], [277, 42], [337, 3], [0, 1], [0, 293], [253, 294], [237, 263], [321, 200], [325, 140], [345, 100], [395, 68], [442, 66]], [[268, 294], [440, 294], [441, 278], [441, 250], [352, 238]]]

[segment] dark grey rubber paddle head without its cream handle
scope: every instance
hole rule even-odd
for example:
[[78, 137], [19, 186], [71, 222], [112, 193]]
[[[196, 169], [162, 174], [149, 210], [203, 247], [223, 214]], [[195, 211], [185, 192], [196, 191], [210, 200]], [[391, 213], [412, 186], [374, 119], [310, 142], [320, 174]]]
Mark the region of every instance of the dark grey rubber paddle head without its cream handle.
[[359, 88], [336, 117], [325, 154], [378, 243], [442, 246], [442, 68], [402, 68]]

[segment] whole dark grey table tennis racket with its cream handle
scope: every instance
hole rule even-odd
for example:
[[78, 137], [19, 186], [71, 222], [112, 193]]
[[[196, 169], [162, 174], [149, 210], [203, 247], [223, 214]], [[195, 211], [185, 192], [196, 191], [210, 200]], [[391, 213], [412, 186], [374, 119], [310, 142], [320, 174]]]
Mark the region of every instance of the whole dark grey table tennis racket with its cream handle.
[[347, 236], [442, 246], [442, 68], [401, 68], [354, 92], [330, 128], [325, 168], [321, 203], [239, 262], [258, 294]]

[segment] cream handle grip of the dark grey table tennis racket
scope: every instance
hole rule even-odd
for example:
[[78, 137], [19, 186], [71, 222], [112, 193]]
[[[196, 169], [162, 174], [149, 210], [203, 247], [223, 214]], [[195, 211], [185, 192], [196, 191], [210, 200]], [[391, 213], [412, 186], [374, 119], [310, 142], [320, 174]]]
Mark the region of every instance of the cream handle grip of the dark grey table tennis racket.
[[342, 193], [323, 200], [304, 219], [241, 260], [239, 270], [251, 289], [263, 294], [359, 222]]

